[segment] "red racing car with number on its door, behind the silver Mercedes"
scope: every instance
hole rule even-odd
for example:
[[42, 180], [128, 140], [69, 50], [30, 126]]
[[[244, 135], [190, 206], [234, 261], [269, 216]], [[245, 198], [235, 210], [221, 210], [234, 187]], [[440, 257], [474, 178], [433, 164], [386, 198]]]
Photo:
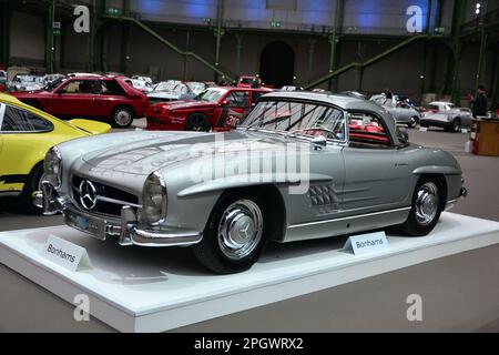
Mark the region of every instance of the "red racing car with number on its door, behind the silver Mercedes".
[[151, 105], [147, 130], [227, 131], [246, 116], [269, 89], [208, 88], [194, 100]]

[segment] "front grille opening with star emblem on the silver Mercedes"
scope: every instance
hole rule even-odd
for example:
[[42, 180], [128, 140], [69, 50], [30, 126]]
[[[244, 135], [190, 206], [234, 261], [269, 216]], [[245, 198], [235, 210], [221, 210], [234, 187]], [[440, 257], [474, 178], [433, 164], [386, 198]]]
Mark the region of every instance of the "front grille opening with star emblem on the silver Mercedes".
[[[86, 200], [83, 199], [82, 203], [80, 186], [84, 181], [90, 182], [92, 189], [91, 189], [91, 196], [88, 196]], [[82, 210], [89, 212], [112, 216], [121, 216], [121, 209], [124, 205], [132, 206], [135, 210], [135, 212], [136, 209], [140, 207], [139, 199], [135, 195], [125, 192], [123, 190], [109, 186], [89, 179], [73, 176], [72, 190], [74, 203]], [[89, 203], [89, 201], [92, 200], [94, 200], [95, 203]]]

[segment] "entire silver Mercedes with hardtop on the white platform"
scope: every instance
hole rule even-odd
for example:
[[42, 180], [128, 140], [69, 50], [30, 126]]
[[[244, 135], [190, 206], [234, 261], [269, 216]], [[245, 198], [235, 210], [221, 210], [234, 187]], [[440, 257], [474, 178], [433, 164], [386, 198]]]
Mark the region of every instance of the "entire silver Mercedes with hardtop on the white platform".
[[268, 241], [432, 231], [467, 191], [452, 155], [408, 142], [375, 103], [275, 92], [233, 131], [96, 135], [45, 156], [45, 214], [121, 245], [191, 246], [216, 273]]

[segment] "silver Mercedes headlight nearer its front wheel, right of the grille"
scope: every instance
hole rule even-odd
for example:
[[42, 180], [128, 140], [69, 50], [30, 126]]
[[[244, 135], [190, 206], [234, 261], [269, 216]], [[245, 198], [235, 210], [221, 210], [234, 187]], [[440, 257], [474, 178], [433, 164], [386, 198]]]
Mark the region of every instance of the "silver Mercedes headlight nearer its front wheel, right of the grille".
[[166, 217], [166, 185], [157, 173], [147, 176], [142, 192], [141, 222], [159, 224]]

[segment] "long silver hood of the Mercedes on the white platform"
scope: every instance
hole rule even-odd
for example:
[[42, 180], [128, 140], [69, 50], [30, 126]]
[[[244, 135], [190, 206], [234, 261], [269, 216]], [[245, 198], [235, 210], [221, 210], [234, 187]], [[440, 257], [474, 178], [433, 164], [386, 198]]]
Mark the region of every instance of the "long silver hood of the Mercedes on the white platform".
[[302, 152], [310, 149], [309, 142], [304, 140], [246, 130], [226, 133], [176, 132], [156, 138], [144, 136], [126, 145], [101, 149], [84, 154], [82, 159], [95, 168], [93, 171], [149, 175], [152, 172], [167, 172], [189, 165], [194, 160], [197, 163], [198, 159], [211, 159], [212, 154], [223, 154], [228, 161], [242, 154], [247, 158], [247, 154], [268, 152], [277, 145], [283, 152], [292, 146], [301, 146]]

